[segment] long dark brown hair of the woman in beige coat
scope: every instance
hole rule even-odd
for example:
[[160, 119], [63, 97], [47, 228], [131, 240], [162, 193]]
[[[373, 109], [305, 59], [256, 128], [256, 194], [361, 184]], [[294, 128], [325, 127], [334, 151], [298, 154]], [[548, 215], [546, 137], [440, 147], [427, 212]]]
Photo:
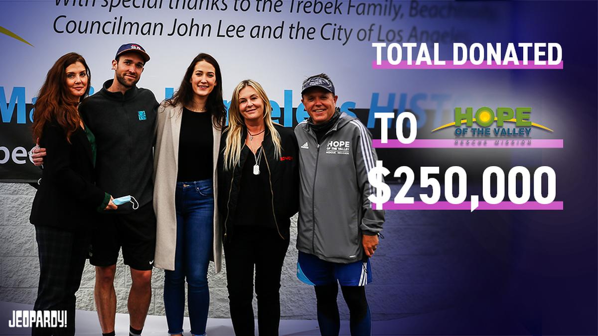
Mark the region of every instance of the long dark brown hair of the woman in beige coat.
[[222, 129], [226, 123], [226, 107], [222, 100], [222, 74], [220, 72], [220, 66], [214, 57], [209, 54], [201, 53], [197, 55], [188, 66], [185, 71], [185, 76], [181, 81], [181, 85], [172, 98], [167, 99], [166, 103], [169, 105], [183, 105], [187, 106], [193, 102], [193, 88], [191, 87], [191, 76], [193, 75], [193, 69], [198, 62], [205, 60], [210, 63], [216, 70], [216, 85], [212, 89], [212, 92], [208, 95], [208, 101], [206, 102], [206, 109], [212, 114], [212, 122], [216, 129]]

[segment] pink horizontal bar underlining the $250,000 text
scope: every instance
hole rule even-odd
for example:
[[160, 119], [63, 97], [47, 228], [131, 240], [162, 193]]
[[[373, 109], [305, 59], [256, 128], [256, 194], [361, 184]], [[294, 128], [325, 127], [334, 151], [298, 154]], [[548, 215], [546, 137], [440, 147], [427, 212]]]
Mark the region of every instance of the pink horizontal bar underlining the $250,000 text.
[[[392, 201], [384, 203], [384, 210], [471, 210], [471, 202], [466, 201], [460, 204], [451, 204], [447, 201], [439, 201], [434, 204], [426, 204], [422, 201], [415, 201], [413, 204], [395, 204]], [[540, 204], [530, 201], [523, 204], [515, 204], [509, 201], [498, 204], [489, 204], [480, 201], [477, 210], [563, 210], [563, 201], [553, 201], [549, 204]]]

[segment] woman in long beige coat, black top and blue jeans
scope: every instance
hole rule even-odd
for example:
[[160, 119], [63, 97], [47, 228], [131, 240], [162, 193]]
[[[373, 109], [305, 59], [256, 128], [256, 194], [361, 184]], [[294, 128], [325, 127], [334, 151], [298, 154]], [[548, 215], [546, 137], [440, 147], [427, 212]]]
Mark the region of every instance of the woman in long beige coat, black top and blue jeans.
[[170, 335], [183, 333], [185, 279], [191, 334], [205, 335], [210, 258], [220, 271], [216, 161], [226, 108], [222, 75], [209, 54], [197, 55], [171, 99], [158, 108], [154, 151], [155, 267], [164, 268]]

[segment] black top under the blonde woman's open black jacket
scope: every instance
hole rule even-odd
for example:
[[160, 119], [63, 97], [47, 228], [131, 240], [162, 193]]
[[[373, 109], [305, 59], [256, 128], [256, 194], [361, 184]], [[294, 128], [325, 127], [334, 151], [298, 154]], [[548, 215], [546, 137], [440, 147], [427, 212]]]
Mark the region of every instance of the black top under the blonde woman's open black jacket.
[[[263, 148], [255, 152], [257, 157]], [[248, 151], [247, 160], [243, 163], [241, 173], [241, 186], [239, 188], [239, 198], [237, 200], [237, 212], [233, 219], [233, 225], [258, 226], [274, 228], [272, 216], [272, 203], [270, 191], [270, 179], [268, 175], [268, 166], [264, 154], [260, 158], [260, 174], [254, 174], [255, 157], [248, 146], [243, 148]]]

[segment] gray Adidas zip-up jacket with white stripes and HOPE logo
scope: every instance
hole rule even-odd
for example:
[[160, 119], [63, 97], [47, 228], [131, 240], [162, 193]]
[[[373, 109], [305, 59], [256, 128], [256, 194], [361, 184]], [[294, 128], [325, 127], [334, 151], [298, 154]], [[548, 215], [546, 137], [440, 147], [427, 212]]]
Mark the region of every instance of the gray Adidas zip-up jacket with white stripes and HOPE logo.
[[362, 234], [382, 231], [384, 211], [373, 210], [368, 171], [376, 152], [368, 129], [343, 113], [321, 145], [307, 121], [295, 127], [299, 144], [300, 201], [297, 249], [348, 264], [364, 258]]

